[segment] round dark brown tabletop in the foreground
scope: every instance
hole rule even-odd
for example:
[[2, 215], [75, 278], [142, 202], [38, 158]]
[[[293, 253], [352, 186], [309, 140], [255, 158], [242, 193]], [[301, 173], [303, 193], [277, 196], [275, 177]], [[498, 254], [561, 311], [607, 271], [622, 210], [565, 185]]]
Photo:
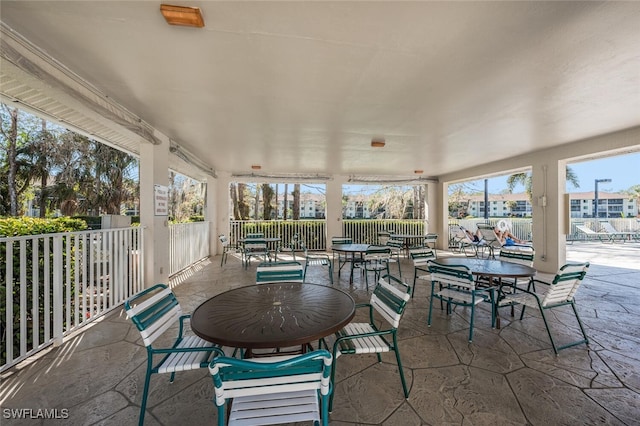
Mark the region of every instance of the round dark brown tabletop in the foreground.
[[201, 338], [235, 348], [305, 345], [347, 325], [355, 302], [342, 290], [318, 284], [276, 283], [218, 294], [191, 315]]

